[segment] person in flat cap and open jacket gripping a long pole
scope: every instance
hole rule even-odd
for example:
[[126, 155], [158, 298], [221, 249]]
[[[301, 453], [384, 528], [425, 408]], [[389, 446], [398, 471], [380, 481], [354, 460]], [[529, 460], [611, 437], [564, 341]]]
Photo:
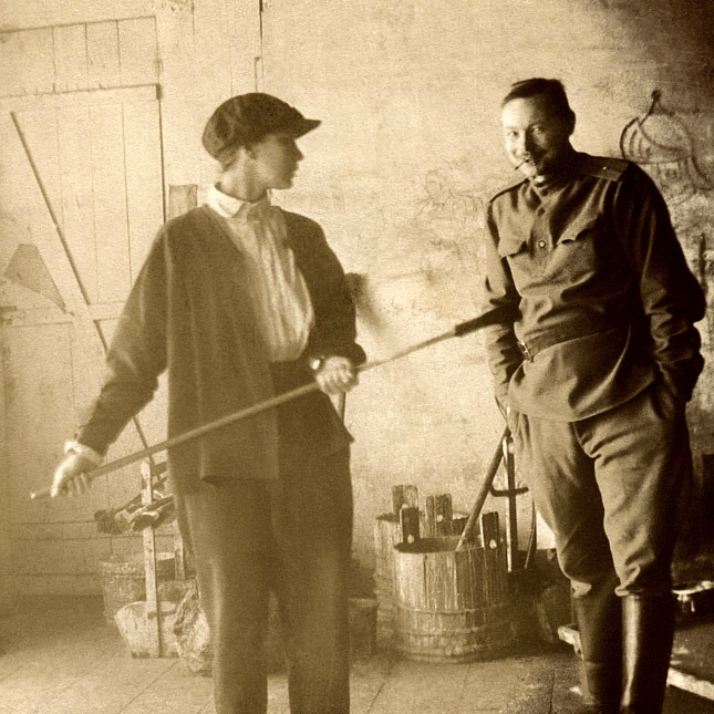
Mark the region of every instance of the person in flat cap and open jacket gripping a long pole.
[[107, 376], [58, 466], [83, 493], [168, 376], [168, 436], [317, 380], [262, 412], [168, 451], [214, 650], [218, 714], [267, 708], [262, 643], [277, 596], [293, 714], [349, 712], [350, 442], [329, 394], [365, 359], [344, 272], [322, 229], [270, 203], [320, 122], [268, 94], [234, 96], [203, 143], [219, 163], [206, 204], [158, 231], [107, 353]]

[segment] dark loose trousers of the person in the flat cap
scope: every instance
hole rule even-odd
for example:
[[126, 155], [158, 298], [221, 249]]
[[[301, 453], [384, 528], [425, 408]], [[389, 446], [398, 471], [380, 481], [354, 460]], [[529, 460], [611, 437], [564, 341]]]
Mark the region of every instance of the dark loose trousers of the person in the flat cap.
[[218, 714], [267, 708], [262, 645], [278, 600], [292, 714], [346, 714], [349, 449], [296, 457], [280, 482], [201, 483], [177, 499], [214, 648]]

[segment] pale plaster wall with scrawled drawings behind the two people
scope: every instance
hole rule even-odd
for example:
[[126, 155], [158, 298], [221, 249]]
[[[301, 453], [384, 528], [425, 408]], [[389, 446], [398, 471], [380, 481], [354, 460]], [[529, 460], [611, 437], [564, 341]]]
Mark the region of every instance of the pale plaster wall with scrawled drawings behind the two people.
[[[526, 76], [565, 82], [578, 115], [577, 148], [619, 156], [625, 127], [652, 127], [654, 139], [639, 141], [633, 158], [668, 192], [692, 269], [706, 287], [714, 279], [711, 2], [123, 0], [110, 12], [90, 2], [7, 0], [0, 27], [132, 17], [155, 18], [167, 189], [213, 180], [200, 133], [231, 94], [262, 90], [322, 120], [300, 142], [306, 158], [293, 189], [275, 200], [319, 220], [356, 276], [360, 339], [371, 360], [477, 313], [484, 204], [513, 177], [498, 106], [510, 82]], [[38, 91], [52, 89], [24, 90]], [[672, 144], [676, 161], [661, 151]], [[711, 363], [713, 328], [703, 321], [701, 329]], [[708, 364], [690, 408], [697, 469], [700, 455], [714, 451], [711, 393]], [[456, 510], [472, 506], [503, 431], [479, 335], [363, 374], [345, 418], [355, 437], [362, 588], [373, 563], [373, 522], [390, 508], [392, 485], [451, 493]], [[158, 433], [158, 414], [154, 422]], [[8, 478], [17, 486], [21, 476]], [[520, 501], [525, 539], [530, 504]], [[505, 513], [503, 499], [486, 508]], [[66, 578], [52, 582], [72, 588]]]

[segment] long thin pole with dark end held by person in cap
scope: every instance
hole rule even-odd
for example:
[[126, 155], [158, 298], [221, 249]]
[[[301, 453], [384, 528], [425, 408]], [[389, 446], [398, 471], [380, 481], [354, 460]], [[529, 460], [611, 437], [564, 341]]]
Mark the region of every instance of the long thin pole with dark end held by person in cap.
[[[425, 348], [437, 344], [438, 342], [443, 342], [444, 340], [448, 340], [451, 338], [456, 338], [456, 337], [463, 337], [465, 334], [468, 334], [469, 332], [474, 332], [475, 330], [479, 330], [493, 323], [494, 323], [494, 318], [490, 314], [482, 315], [473, 320], [462, 322], [455, 325], [454, 328], [452, 328], [451, 330], [448, 330], [447, 332], [444, 332], [443, 334], [436, 335], [434, 338], [430, 338], [428, 340], [424, 340], [423, 342], [418, 342], [408, 348], [405, 348], [404, 350], [395, 352], [394, 354], [392, 354], [391, 356], [384, 360], [368, 362], [361, 365], [360, 368], [358, 368], [358, 370], [359, 372], [366, 372], [376, 366], [381, 366], [383, 364], [389, 364], [390, 362], [394, 362], [395, 360], [400, 360], [401, 358], [404, 358], [407, 354], [412, 354], [413, 352], [417, 352], [418, 350], [424, 350]], [[132, 454], [123, 456], [122, 458], [117, 458], [116, 461], [108, 462], [107, 464], [104, 464], [103, 466], [100, 466], [89, 472], [86, 474], [86, 477], [89, 480], [94, 480], [97, 476], [102, 476], [104, 474], [108, 474], [113, 470], [116, 470], [117, 468], [122, 468], [124, 466], [128, 466], [130, 464], [134, 464], [143, 458], [146, 458], [147, 456], [151, 456], [152, 454], [156, 454], [157, 452], [164, 452], [167, 448], [173, 448], [174, 446], [178, 446], [179, 444], [184, 444], [186, 442], [200, 438], [201, 436], [208, 434], [209, 432], [215, 432], [216, 430], [219, 430], [224, 426], [228, 426], [229, 424], [234, 424], [241, 420], [256, 416], [257, 414], [260, 414], [262, 412], [267, 412], [268, 410], [276, 408], [277, 406], [280, 406], [281, 404], [286, 404], [287, 402], [291, 402], [292, 400], [296, 400], [300, 396], [310, 394], [311, 392], [317, 392], [319, 389], [320, 387], [317, 382], [310, 382], [309, 384], [299, 386], [298, 389], [292, 390], [290, 392], [284, 392], [283, 394], [273, 396], [269, 400], [266, 400], [265, 402], [253, 404], [252, 406], [248, 406], [232, 414], [227, 414], [226, 416], [223, 416], [221, 418], [218, 418], [214, 422], [209, 422], [208, 424], [204, 424], [203, 426], [197, 426], [196, 428], [193, 428], [188, 432], [185, 432], [183, 434], [177, 434], [176, 436], [172, 436], [166, 441], [158, 442], [153, 446], [147, 446], [146, 448], [143, 448], [138, 452], [134, 452]], [[32, 491], [30, 494], [30, 498], [32, 499], [46, 498], [49, 496], [50, 496], [49, 488], [42, 488], [40, 490]]]

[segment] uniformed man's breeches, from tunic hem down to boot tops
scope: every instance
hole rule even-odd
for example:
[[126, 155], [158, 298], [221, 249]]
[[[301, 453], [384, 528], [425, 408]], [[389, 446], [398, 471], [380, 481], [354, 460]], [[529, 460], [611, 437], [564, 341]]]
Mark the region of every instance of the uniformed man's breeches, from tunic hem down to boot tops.
[[576, 598], [613, 569], [620, 596], [671, 594], [692, 457], [684, 410], [662, 390], [579, 422], [510, 415], [517, 459]]

